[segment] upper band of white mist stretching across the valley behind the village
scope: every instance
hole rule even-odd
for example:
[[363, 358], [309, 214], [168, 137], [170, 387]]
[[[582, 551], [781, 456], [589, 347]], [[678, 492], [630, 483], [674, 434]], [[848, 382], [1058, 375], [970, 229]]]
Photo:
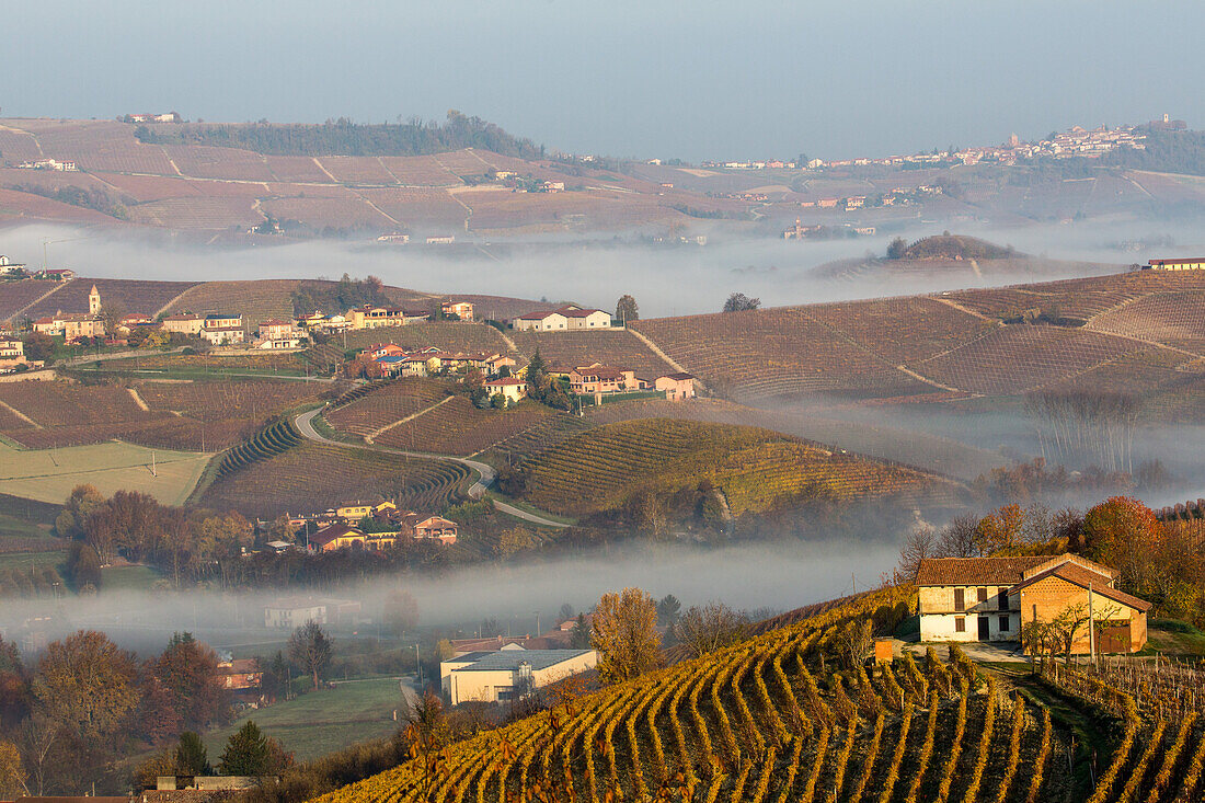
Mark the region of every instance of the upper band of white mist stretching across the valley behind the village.
[[[1189, 223], [1131, 221], [1083, 222], [992, 229], [976, 224], [911, 224], [856, 240], [784, 241], [751, 238], [735, 228], [698, 227], [687, 234], [709, 234], [706, 246], [653, 246], [625, 239], [455, 244], [453, 246], [380, 245], [365, 241], [290, 241], [254, 245], [205, 245], [196, 234], [174, 235], [142, 228], [87, 229], [52, 224], [0, 228], [0, 253], [40, 265], [42, 242], [49, 240], [48, 266], [71, 268], [82, 276], [148, 280], [246, 280], [380, 276], [388, 285], [437, 293], [477, 293], [549, 300], [576, 300], [610, 309], [623, 293], [640, 303], [643, 317], [715, 312], [731, 292], [759, 297], [765, 306], [877, 298], [1045, 281], [1083, 275], [1059, 272], [978, 277], [969, 268], [905, 275], [899, 279], [840, 279], [816, 268], [837, 259], [882, 254], [897, 235], [918, 239], [944, 228], [1011, 244], [1018, 251], [1056, 259], [1113, 264], [1163, 256], [1166, 247], [1121, 251], [1122, 242], [1170, 238], [1189, 247], [1199, 228]], [[1180, 244], [1185, 244], [1181, 246]]]

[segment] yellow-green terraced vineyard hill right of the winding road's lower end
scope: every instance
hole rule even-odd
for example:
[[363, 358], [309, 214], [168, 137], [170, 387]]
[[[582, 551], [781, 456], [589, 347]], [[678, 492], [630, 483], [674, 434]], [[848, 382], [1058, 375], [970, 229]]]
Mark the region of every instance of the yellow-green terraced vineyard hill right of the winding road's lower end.
[[[672, 492], [706, 477], [734, 515], [801, 493], [839, 499], [927, 494], [934, 477], [754, 427], [647, 418], [605, 424], [523, 464], [533, 504], [565, 515], [622, 506], [637, 491]], [[944, 483], [942, 483], [944, 485]]]

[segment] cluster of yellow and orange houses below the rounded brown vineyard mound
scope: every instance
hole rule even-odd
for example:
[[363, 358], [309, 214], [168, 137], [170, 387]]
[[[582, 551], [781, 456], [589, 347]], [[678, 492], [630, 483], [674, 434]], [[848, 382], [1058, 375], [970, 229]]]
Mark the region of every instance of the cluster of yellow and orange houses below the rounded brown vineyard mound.
[[[401, 510], [390, 499], [349, 502], [321, 514], [288, 515], [289, 524], [305, 533], [310, 552], [334, 552], [341, 549], [382, 551], [402, 541], [455, 544], [454, 521], [431, 514]], [[278, 552], [293, 549], [288, 541], [268, 545]]]

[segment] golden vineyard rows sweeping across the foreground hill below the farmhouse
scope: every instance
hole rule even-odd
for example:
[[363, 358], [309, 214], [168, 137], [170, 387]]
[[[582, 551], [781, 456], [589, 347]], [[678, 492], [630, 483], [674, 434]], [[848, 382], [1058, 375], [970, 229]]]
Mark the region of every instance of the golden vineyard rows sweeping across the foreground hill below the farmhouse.
[[434, 770], [408, 762], [319, 799], [1200, 799], [1200, 727], [1131, 716], [1119, 690], [1051, 679], [1076, 710], [1119, 726], [1098, 732], [1093, 789], [1066, 758], [1077, 737], [960, 653], [831, 670], [841, 628], [907, 599], [860, 597], [452, 744]]

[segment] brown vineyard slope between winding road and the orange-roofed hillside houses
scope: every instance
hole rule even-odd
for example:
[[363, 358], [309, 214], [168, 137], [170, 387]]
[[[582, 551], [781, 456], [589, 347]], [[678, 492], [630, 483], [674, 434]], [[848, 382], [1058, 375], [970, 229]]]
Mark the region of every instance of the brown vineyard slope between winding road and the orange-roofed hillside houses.
[[536, 402], [521, 402], [509, 410], [478, 410], [468, 397], [458, 395], [382, 433], [376, 442], [418, 452], [475, 455], [559, 415]]

